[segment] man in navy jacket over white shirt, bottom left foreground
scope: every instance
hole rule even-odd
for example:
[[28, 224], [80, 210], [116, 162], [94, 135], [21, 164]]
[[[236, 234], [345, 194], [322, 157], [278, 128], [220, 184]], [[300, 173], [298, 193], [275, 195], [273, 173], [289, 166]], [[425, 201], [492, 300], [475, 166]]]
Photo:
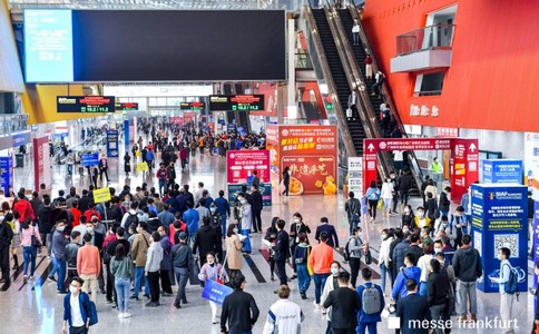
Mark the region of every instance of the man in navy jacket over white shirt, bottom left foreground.
[[90, 326], [90, 297], [81, 291], [85, 281], [75, 277], [69, 285], [69, 294], [63, 297], [62, 333], [87, 334]]

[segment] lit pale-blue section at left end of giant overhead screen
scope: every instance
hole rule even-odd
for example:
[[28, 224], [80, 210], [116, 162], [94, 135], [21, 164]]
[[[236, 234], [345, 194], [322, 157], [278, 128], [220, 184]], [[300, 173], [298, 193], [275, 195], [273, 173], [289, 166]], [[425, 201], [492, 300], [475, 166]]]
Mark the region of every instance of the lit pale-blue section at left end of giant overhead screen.
[[74, 81], [70, 10], [24, 10], [27, 82]]

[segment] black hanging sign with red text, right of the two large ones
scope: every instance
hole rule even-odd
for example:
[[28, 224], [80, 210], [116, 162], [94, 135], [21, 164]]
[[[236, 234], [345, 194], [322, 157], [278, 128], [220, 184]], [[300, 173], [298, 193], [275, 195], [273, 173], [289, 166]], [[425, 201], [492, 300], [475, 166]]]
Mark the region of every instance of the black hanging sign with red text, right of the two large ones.
[[212, 111], [261, 111], [264, 110], [264, 95], [210, 95]]

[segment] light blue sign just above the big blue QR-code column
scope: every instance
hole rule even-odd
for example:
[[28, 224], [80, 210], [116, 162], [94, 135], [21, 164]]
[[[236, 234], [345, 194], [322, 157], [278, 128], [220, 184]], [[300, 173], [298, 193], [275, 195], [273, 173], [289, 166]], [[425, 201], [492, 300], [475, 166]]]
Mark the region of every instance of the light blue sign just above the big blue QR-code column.
[[483, 160], [484, 184], [522, 184], [522, 160], [487, 159]]

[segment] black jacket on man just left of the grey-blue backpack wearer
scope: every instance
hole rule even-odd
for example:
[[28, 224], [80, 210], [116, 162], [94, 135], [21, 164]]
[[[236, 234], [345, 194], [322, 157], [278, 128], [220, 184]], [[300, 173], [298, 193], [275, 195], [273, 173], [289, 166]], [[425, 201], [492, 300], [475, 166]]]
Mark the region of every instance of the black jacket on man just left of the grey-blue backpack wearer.
[[332, 291], [324, 302], [324, 308], [332, 306], [332, 330], [355, 330], [357, 312], [361, 310], [357, 293], [347, 286], [340, 286]]

